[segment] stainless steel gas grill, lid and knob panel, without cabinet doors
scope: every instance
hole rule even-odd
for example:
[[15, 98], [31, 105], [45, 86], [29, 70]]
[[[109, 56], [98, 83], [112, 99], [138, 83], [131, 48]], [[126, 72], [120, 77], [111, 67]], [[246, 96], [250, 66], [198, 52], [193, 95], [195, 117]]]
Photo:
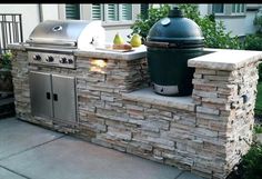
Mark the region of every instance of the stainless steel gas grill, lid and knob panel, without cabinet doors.
[[33, 29], [26, 42], [30, 63], [75, 68], [73, 50], [94, 49], [104, 41], [101, 21], [47, 20]]

